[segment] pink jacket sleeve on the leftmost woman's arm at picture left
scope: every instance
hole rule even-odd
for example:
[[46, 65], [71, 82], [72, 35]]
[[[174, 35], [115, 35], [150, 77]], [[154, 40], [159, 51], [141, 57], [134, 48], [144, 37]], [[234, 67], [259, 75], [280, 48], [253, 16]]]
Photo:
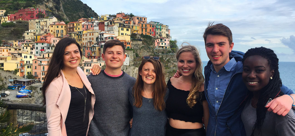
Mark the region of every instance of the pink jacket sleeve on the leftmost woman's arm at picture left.
[[48, 136], [62, 135], [60, 127], [61, 112], [57, 105], [60, 91], [55, 84], [50, 83], [45, 92]]

